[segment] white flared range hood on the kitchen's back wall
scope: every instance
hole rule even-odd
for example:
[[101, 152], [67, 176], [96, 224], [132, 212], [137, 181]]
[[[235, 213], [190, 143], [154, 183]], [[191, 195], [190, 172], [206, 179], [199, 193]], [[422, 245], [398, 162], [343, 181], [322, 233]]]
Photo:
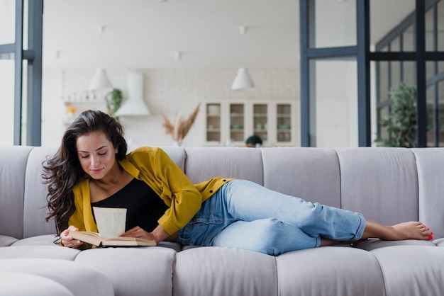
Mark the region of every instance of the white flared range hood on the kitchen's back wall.
[[128, 100], [116, 111], [116, 116], [150, 115], [143, 101], [143, 73], [128, 74]]

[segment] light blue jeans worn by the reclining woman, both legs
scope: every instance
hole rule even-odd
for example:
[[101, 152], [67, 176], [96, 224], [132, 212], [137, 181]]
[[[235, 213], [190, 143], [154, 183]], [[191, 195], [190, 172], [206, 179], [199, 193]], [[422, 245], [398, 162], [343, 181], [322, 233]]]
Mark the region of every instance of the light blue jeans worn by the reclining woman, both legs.
[[180, 244], [226, 246], [270, 255], [318, 247], [321, 237], [358, 240], [360, 213], [310, 203], [245, 180], [223, 185], [179, 231]]

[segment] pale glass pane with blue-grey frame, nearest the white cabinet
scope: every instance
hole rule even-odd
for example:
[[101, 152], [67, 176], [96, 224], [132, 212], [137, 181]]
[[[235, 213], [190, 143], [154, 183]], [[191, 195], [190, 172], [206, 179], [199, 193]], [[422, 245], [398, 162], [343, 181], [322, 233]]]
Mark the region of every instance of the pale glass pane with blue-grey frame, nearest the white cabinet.
[[[357, 67], [364, 28], [363, 1], [301, 0], [301, 146], [366, 145], [370, 128]], [[357, 34], [359, 32], [359, 34]], [[364, 34], [365, 35], [365, 34]], [[366, 112], [366, 111], [365, 111]]]

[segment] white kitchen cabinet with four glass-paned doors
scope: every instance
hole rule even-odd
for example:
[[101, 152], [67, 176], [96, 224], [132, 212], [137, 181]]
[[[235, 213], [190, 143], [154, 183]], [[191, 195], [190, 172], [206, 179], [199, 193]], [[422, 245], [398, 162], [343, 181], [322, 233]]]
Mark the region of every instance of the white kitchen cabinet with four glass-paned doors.
[[294, 146], [295, 111], [292, 101], [211, 101], [206, 103], [206, 145], [245, 146], [250, 135], [263, 147]]

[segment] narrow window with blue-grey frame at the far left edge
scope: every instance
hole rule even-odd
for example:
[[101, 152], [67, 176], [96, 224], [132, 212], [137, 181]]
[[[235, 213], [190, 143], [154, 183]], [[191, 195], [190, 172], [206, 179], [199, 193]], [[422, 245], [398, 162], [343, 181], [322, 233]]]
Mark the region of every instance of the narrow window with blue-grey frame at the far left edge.
[[0, 144], [40, 145], [43, 0], [0, 0]]

